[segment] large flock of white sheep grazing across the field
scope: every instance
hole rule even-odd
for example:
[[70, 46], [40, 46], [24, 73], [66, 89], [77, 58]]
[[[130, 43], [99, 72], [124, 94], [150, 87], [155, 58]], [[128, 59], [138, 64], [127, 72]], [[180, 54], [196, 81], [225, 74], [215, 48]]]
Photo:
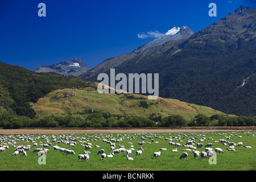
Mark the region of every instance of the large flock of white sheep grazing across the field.
[[[250, 132], [243, 132], [244, 135], [250, 135], [254, 137], [254, 134]], [[37, 155], [47, 155], [49, 148], [53, 148], [53, 151], [60, 152], [65, 155], [76, 155], [74, 150], [71, 150], [72, 147], [76, 147], [80, 145], [84, 147], [83, 154], [78, 155], [79, 161], [84, 160], [88, 162], [90, 155], [100, 155], [99, 160], [105, 160], [106, 158], [114, 158], [115, 155], [124, 154], [127, 160], [134, 160], [131, 158], [131, 153], [135, 151], [136, 156], [143, 155], [144, 145], [151, 143], [158, 143], [155, 141], [156, 139], [167, 140], [166, 143], [170, 146], [175, 146], [176, 148], [171, 152], [178, 152], [177, 148], [184, 148], [180, 155], [180, 159], [188, 158], [188, 154], [191, 153], [194, 159], [205, 159], [213, 156], [213, 151], [217, 154], [224, 154], [224, 150], [222, 148], [217, 147], [213, 148], [214, 143], [221, 143], [226, 150], [228, 151], [236, 151], [236, 147], [245, 147], [251, 148], [250, 146], [246, 146], [243, 142], [230, 142], [230, 139], [233, 137], [242, 138], [241, 135], [238, 135], [237, 132], [228, 132], [228, 133], [212, 133], [212, 137], [205, 138], [205, 133], [201, 134], [168, 134], [168, 138], [162, 137], [160, 134], [147, 134], [147, 133], [135, 133], [135, 134], [116, 134], [114, 137], [113, 134], [95, 134], [92, 136], [83, 134], [83, 135], [0, 135], [0, 153], [5, 152], [5, 150], [14, 150], [13, 156], [18, 156], [20, 153], [23, 156], [27, 156], [27, 151], [36, 152]], [[172, 135], [172, 136], [171, 136]], [[174, 136], [175, 135], [175, 136]], [[220, 135], [223, 139], [213, 141], [214, 135]], [[122, 142], [124, 139], [127, 139], [127, 146], [122, 146], [118, 144]], [[199, 143], [195, 141], [195, 139], [199, 140]], [[93, 145], [93, 141], [102, 140], [109, 144], [109, 148], [101, 148], [98, 145]], [[185, 142], [184, 142], [185, 140]], [[203, 144], [207, 140], [206, 144]], [[26, 145], [17, 145], [18, 142], [27, 142]], [[29, 144], [31, 143], [31, 144]], [[64, 143], [69, 146], [68, 148], [63, 148], [58, 146], [59, 143]], [[184, 144], [181, 144], [184, 143]], [[54, 144], [54, 145], [53, 145]], [[12, 146], [12, 147], [11, 147]], [[105, 145], [106, 146], [106, 145]], [[34, 148], [36, 147], [36, 148]], [[97, 154], [91, 154], [90, 149], [92, 147], [99, 148], [97, 150]], [[34, 149], [32, 149], [34, 148]], [[135, 150], [136, 148], [136, 150]], [[204, 151], [197, 151], [197, 148], [204, 148]], [[152, 154], [152, 159], [160, 158], [161, 152], [167, 150], [167, 148], [159, 148], [158, 151], [155, 151]], [[107, 153], [107, 151], [109, 151]], [[82, 153], [82, 152], [81, 152]], [[1, 157], [1, 154], [0, 154]]]

